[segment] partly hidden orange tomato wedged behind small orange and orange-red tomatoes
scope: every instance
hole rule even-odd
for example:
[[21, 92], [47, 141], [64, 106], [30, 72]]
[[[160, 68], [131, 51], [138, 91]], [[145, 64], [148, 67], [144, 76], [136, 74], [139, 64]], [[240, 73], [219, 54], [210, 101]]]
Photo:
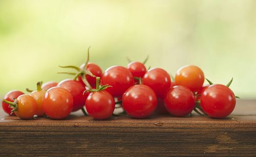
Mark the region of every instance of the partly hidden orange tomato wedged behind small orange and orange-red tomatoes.
[[36, 115], [37, 116], [43, 116], [44, 111], [42, 110], [42, 99], [44, 99], [46, 91], [45, 90], [35, 90], [31, 93], [31, 96], [35, 99], [36, 101]]

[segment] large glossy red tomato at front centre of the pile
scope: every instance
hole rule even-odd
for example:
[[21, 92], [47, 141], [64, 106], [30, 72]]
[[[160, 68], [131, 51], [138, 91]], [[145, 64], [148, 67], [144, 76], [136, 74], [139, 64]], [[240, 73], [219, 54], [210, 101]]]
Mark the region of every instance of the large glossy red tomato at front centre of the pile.
[[134, 85], [123, 94], [123, 110], [133, 118], [150, 116], [157, 107], [155, 92], [145, 85]]

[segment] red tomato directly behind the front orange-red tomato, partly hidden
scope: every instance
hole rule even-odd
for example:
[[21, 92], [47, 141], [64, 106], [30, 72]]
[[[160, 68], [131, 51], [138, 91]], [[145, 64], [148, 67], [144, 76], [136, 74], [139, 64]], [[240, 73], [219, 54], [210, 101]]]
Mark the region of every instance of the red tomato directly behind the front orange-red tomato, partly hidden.
[[58, 83], [57, 86], [67, 89], [73, 96], [73, 112], [82, 109], [86, 102], [86, 98], [89, 95], [87, 92], [83, 95], [83, 91], [86, 90], [86, 87], [84, 87], [79, 81], [72, 79], [63, 80]]

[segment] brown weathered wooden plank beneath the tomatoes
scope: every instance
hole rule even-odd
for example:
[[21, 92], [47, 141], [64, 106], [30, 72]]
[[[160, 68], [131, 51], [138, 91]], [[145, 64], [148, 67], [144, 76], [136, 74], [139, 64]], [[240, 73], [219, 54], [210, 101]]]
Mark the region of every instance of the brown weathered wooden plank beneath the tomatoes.
[[[2, 109], [2, 108], [1, 108]], [[19, 120], [0, 113], [0, 156], [256, 156], [256, 101], [238, 100], [226, 119], [153, 115], [94, 120]]]

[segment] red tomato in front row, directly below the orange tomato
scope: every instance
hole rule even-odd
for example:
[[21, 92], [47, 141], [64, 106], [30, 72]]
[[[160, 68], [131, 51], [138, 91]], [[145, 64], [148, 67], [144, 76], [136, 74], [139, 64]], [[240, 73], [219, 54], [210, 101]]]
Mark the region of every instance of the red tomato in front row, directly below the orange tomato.
[[170, 88], [164, 98], [164, 104], [170, 114], [178, 117], [188, 115], [196, 105], [193, 92], [183, 86]]

